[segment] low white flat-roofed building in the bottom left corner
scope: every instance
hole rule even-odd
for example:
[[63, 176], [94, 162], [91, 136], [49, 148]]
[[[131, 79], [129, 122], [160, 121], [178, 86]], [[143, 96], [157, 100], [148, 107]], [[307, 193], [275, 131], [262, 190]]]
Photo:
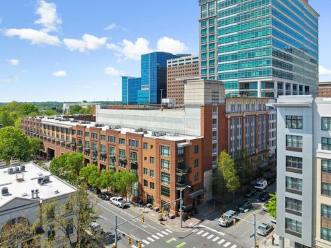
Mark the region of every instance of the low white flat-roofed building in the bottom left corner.
[[[11, 225], [18, 220], [27, 220], [29, 225], [37, 220], [43, 221], [41, 215], [43, 204], [57, 201], [59, 204], [66, 203], [70, 194], [76, 189], [65, 181], [50, 174], [45, 169], [34, 163], [19, 165], [18, 161], [12, 161], [8, 166], [0, 162], [0, 227], [1, 231], [6, 225]], [[72, 218], [72, 216], [68, 216]], [[45, 224], [41, 226], [41, 240], [52, 233], [52, 227]], [[55, 238], [59, 237], [61, 230], [57, 230]], [[72, 229], [72, 240], [74, 231]], [[27, 240], [28, 242], [28, 240]], [[70, 244], [59, 243], [57, 247], [69, 247]], [[21, 244], [18, 245], [21, 247]]]

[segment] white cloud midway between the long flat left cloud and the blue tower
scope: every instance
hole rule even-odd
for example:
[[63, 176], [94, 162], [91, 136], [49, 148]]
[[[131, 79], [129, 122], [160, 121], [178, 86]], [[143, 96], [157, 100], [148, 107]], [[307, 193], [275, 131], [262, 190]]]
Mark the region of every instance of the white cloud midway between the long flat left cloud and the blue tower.
[[107, 37], [94, 37], [90, 34], [84, 34], [81, 39], [63, 39], [64, 45], [70, 51], [79, 50], [85, 52], [86, 50], [99, 50], [106, 45]]

